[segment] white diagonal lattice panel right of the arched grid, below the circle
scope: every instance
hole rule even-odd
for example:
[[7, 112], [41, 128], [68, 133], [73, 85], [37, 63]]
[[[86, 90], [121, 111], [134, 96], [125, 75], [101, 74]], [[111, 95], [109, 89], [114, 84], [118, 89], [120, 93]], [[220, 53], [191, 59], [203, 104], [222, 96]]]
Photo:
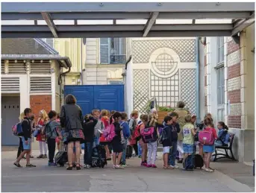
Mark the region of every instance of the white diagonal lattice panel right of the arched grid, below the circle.
[[196, 113], [196, 69], [181, 69], [181, 101]]

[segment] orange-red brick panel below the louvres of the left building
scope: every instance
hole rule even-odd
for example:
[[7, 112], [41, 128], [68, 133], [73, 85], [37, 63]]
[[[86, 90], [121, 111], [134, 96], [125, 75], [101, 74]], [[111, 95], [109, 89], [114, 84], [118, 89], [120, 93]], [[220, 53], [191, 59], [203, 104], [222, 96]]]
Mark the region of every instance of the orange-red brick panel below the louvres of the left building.
[[30, 106], [36, 118], [38, 118], [40, 110], [46, 110], [46, 113], [49, 113], [51, 110], [51, 95], [31, 95]]

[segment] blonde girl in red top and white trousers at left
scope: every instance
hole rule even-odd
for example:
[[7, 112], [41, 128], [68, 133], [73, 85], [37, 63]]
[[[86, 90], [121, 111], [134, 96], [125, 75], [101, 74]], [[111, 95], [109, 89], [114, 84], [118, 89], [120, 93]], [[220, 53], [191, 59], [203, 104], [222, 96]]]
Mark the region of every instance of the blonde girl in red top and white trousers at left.
[[[40, 110], [39, 118], [37, 121], [37, 127], [43, 127], [46, 125], [46, 122], [49, 120], [48, 115], [45, 110]], [[41, 130], [42, 131], [42, 130]], [[37, 158], [47, 158], [47, 145], [46, 145], [46, 136], [42, 135], [42, 132], [37, 135], [37, 141], [39, 142], [40, 155]]]

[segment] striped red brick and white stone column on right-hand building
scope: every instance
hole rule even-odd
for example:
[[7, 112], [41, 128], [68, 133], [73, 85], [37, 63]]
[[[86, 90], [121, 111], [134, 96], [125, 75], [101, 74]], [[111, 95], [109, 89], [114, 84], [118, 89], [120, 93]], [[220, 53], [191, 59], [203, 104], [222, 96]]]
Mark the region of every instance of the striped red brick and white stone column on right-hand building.
[[240, 77], [240, 45], [228, 38], [227, 44], [228, 66], [228, 100], [230, 101], [230, 114], [228, 115], [228, 127], [241, 128], [241, 77]]

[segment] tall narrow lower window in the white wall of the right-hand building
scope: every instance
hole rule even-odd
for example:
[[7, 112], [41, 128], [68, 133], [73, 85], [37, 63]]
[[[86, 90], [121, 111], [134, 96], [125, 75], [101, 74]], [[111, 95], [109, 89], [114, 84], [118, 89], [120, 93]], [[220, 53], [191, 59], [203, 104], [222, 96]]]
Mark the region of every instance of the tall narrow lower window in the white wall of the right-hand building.
[[217, 109], [218, 121], [224, 121], [225, 112], [225, 82], [224, 82], [224, 67], [216, 69], [217, 73]]

